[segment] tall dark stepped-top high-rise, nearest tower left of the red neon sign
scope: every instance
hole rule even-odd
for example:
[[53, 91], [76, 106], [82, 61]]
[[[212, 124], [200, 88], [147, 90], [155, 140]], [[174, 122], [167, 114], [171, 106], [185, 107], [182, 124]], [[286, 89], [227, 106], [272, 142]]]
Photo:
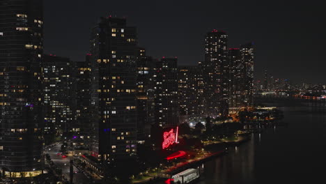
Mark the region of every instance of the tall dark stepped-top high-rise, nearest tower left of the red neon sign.
[[92, 150], [102, 160], [137, 151], [137, 32], [126, 20], [102, 17], [91, 34]]

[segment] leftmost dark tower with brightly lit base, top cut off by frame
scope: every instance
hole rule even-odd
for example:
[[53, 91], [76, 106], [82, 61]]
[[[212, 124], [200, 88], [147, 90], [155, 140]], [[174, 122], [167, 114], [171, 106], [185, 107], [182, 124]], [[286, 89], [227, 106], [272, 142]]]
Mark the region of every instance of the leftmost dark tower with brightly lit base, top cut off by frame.
[[42, 173], [42, 1], [0, 1], [0, 169]]

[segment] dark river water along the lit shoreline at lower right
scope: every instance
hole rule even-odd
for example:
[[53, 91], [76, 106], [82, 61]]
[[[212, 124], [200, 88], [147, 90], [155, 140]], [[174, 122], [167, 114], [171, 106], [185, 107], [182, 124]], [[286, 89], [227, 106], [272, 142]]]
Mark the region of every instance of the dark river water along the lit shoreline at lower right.
[[288, 126], [266, 128], [203, 164], [198, 184], [325, 183], [326, 105], [274, 103]]

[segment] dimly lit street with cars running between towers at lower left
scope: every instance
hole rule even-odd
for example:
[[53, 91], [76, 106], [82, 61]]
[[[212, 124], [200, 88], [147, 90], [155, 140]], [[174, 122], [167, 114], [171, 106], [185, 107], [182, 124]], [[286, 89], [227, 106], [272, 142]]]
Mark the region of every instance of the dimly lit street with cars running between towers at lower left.
[[[62, 169], [62, 173], [65, 176], [65, 178], [70, 181], [70, 159], [72, 159], [71, 156], [67, 156], [67, 158], [61, 158], [61, 155], [56, 155], [60, 151], [61, 144], [54, 146], [52, 148], [47, 148], [45, 153], [48, 153], [51, 156], [52, 161], [54, 164]], [[73, 167], [74, 171], [79, 171], [75, 166]], [[83, 173], [79, 172], [74, 174], [74, 180], [73, 183], [75, 184], [89, 184], [91, 183], [91, 180], [88, 179]]]

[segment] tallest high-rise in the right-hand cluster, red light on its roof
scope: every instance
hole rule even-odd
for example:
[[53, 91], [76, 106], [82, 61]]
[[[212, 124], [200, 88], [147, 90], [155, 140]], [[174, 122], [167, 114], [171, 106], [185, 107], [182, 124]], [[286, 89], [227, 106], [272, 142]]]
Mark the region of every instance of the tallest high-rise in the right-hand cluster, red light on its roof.
[[224, 31], [213, 30], [205, 36], [205, 61], [203, 79], [205, 81], [205, 102], [209, 116], [228, 114], [228, 35]]

